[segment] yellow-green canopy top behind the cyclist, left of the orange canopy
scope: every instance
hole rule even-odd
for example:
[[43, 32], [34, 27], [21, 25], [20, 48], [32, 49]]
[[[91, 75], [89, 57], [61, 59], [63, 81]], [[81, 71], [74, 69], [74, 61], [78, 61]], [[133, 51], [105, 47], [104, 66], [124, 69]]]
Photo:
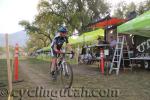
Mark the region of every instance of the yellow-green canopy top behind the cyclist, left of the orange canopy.
[[69, 38], [69, 43], [73, 45], [84, 42], [91, 42], [97, 40], [98, 37], [104, 37], [103, 29], [97, 29], [95, 31], [83, 33], [81, 36], [72, 36]]

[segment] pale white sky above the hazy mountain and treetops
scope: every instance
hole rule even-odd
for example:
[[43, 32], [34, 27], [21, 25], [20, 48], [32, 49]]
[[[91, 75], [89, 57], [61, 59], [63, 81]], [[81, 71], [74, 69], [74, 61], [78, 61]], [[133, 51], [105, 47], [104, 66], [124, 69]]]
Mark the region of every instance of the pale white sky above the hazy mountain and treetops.
[[[113, 9], [116, 4], [123, 0], [107, 0], [112, 4]], [[113, 2], [112, 2], [113, 1]], [[124, 0], [127, 3], [139, 3], [145, 0]], [[39, 0], [0, 0], [0, 33], [14, 33], [23, 30], [18, 25], [20, 20], [32, 22], [37, 14], [37, 4]]]

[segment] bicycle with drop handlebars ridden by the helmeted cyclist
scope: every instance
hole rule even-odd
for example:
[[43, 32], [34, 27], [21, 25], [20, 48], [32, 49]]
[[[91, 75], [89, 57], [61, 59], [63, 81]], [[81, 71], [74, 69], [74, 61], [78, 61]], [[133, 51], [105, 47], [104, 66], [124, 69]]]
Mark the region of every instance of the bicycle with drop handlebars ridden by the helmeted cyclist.
[[[57, 58], [57, 62], [55, 65], [54, 73], [56, 77], [58, 75], [61, 76], [61, 82], [64, 85], [64, 87], [67, 89], [67, 88], [70, 88], [73, 83], [73, 70], [72, 70], [71, 65], [68, 62], [66, 62], [66, 59], [65, 59], [66, 54], [72, 54], [72, 58], [74, 56], [73, 53], [59, 54], [59, 57]], [[50, 72], [51, 72], [51, 63], [50, 63]]]

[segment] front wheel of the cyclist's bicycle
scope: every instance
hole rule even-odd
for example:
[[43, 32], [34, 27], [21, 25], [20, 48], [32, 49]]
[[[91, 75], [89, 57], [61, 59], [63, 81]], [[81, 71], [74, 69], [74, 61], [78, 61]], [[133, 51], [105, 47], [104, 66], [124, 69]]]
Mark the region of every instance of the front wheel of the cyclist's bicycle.
[[70, 88], [73, 83], [73, 71], [70, 64], [64, 62], [61, 64], [61, 81], [64, 88]]

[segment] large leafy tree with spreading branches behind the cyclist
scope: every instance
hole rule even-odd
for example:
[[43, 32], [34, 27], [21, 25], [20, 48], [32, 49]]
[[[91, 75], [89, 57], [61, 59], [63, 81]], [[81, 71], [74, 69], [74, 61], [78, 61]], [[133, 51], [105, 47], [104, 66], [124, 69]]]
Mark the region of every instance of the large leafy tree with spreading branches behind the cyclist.
[[27, 42], [30, 51], [48, 46], [54, 33], [64, 23], [71, 35], [74, 29], [80, 33], [87, 30], [84, 26], [93, 19], [102, 17], [109, 11], [109, 4], [104, 0], [41, 0], [37, 6], [38, 14], [32, 23], [22, 20], [20, 25], [29, 34]]

